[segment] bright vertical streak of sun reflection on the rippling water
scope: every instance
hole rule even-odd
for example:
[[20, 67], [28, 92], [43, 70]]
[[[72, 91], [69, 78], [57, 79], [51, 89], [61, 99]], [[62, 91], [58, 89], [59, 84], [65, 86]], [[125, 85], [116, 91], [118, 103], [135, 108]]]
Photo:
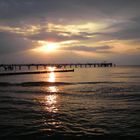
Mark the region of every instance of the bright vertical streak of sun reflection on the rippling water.
[[56, 85], [56, 73], [54, 68], [49, 68], [50, 73], [43, 75], [45, 86], [41, 87], [43, 93], [41, 98], [38, 98], [38, 101], [41, 104], [41, 110], [43, 110], [42, 120], [43, 128], [41, 131], [46, 131], [51, 134], [54, 130], [61, 127], [61, 121], [58, 118], [60, 111], [60, 100], [59, 100], [59, 86]]

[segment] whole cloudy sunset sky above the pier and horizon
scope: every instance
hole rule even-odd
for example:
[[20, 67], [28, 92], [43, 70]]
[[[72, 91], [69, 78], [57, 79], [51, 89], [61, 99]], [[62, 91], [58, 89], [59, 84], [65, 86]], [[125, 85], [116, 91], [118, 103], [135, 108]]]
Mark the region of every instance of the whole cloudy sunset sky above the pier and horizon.
[[0, 0], [0, 63], [140, 65], [140, 0]]

